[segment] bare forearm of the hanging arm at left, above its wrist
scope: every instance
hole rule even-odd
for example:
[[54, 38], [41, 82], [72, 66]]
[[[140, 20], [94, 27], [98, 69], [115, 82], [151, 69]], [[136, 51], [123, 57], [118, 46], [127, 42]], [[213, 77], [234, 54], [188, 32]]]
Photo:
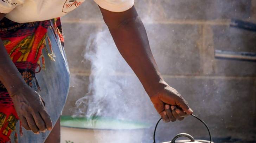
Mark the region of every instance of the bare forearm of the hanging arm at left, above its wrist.
[[0, 39], [0, 81], [4, 84], [5, 88], [10, 95], [21, 85], [26, 84], [20, 72], [9, 57], [5, 46]]

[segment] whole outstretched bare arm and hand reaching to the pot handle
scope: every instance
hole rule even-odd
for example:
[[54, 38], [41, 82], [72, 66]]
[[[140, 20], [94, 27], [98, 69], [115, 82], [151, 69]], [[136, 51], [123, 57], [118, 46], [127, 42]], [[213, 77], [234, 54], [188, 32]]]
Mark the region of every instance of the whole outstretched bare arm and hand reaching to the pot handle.
[[[119, 13], [100, 9], [118, 50], [141, 81], [163, 119], [166, 122], [182, 120], [184, 116], [192, 114], [192, 109], [183, 97], [162, 78], [145, 27], [135, 8]], [[172, 108], [170, 105], [173, 105]], [[182, 110], [176, 109], [175, 105]]]

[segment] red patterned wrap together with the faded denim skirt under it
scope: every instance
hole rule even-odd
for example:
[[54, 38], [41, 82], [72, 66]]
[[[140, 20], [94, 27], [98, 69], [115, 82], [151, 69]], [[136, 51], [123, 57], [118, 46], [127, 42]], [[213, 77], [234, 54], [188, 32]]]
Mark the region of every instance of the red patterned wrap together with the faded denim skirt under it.
[[[16, 23], [4, 18], [0, 37], [26, 83], [45, 100], [55, 124], [68, 95], [70, 77], [60, 19]], [[50, 133], [35, 135], [22, 129], [18, 121], [12, 99], [0, 82], [0, 143], [43, 143]]]

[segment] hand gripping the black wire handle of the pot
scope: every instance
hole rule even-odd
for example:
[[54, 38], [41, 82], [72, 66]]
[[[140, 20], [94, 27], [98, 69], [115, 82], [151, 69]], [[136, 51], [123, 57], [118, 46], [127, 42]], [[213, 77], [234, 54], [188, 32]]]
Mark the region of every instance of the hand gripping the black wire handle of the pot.
[[169, 85], [151, 96], [150, 99], [165, 122], [183, 120], [184, 117], [193, 113], [187, 101]]

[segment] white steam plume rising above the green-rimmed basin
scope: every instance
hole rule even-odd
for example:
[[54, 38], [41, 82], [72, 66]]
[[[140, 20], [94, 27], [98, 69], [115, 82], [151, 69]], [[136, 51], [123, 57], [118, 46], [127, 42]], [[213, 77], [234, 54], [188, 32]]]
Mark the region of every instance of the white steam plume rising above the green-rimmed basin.
[[[90, 36], [84, 57], [91, 62], [90, 85], [87, 95], [76, 102], [79, 109], [77, 115], [116, 117], [119, 112], [136, 112], [127, 107], [126, 93], [123, 92], [128, 79], [117, 75], [122, 68], [129, 76], [133, 76], [130, 74], [132, 71], [120, 56], [107, 30]], [[117, 117], [122, 119], [123, 115]]]

